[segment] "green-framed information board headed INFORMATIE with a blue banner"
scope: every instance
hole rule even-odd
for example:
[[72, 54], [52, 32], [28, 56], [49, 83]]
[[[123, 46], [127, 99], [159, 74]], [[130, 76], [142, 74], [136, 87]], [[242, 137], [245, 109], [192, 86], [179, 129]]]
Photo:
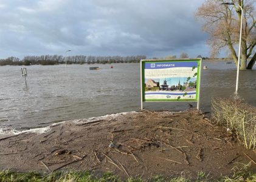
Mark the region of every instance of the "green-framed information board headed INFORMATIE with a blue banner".
[[201, 58], [145, 59], [140, 64], [142, 102], [199, 103]]

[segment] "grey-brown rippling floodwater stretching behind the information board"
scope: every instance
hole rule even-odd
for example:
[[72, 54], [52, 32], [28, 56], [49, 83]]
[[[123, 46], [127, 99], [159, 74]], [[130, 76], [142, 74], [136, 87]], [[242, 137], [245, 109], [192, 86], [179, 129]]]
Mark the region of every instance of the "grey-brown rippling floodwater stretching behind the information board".
[[[211, 99], [235, 91], [237, 70], [226, 61], [205, 61], [200, 109], [210, 111]], [[0, 67], [0, 132], [49, 126], [66, 120], [139, 111], [140, 64], [27, 66], [27, 86], [21, 66]], [[256, 67], [256, 66], [255, 66]], [[255, 69], [255, 68], [254, 68]], [[238, 93], [256, 106], [256, 70], [240, 71]], [[196, 106], [196, 103], [190, 103]], [[188, 103], [144, 103], [145, 109], [185, 110]]]

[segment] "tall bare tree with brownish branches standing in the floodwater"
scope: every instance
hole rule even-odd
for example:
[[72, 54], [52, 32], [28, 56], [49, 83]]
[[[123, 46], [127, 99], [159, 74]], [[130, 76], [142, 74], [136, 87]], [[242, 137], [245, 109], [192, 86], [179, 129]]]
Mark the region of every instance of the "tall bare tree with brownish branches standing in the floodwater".
[[210, 35], [208, 43], [212, 48], [212, 56], [227, 47], [237, 65], [238, 51], [235, 49], [240, 38], [241, 8], [237, 5], [221, 5], [225, 2], [243, 8], [240, 69], [252, 69], [256, 61], [256, 0], [206, 0], [198, 8], [196, 17], [204, 19], [203, 30]]

